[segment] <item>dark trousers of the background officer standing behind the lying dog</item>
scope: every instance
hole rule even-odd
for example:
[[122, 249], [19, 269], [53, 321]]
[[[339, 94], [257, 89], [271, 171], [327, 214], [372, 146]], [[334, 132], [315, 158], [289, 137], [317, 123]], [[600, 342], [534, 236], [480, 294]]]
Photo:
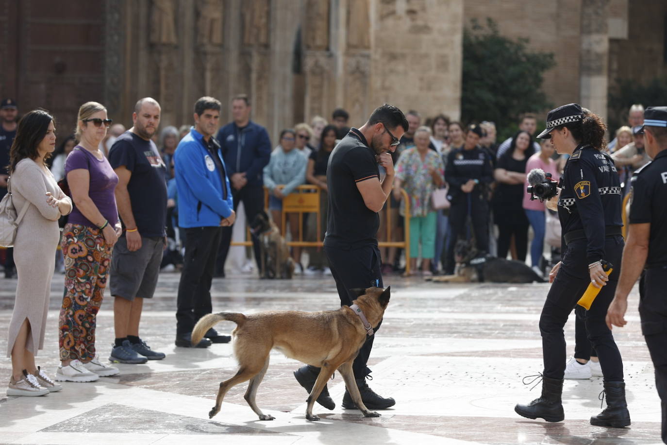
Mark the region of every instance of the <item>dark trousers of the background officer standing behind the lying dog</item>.
[[[468, 208], [470, 207], [470, 209]], [[450, 229], [452, 241], [447, 246], [447, 272], [454, 273], [454, 248], [459, 236], [466, 236], [466, 219], [470, 212], [472, 229], [475, 232], [477, 249], [488, 252], [489, 249], [489, 205], [481, 195], [465, 193], [459, 196], [450, 207]]]

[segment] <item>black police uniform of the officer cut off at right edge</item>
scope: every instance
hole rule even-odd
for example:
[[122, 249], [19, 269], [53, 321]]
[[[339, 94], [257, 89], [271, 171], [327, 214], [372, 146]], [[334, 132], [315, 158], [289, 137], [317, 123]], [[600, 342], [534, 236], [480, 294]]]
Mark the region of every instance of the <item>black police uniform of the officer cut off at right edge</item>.
[[[649, 109], [645, 117], [648, 118]], [[666, 110], [667, 111], [667, 110]], [[645, 121], [646, 124], [646, 121]], [[642, 334], [662, 400], [662, 441], [667, 444], [667, 150], [634, 173], [630, 224], [650, 223], [648, 256], [639, 283]]]

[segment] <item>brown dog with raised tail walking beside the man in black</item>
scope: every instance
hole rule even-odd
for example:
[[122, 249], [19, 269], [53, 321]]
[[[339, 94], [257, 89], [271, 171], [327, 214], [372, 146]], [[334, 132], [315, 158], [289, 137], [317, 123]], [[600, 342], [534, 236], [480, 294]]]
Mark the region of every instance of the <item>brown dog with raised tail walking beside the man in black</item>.
[[[219, 312], [203, 316], [192, 332], [192, 344], [199, 343], [205, 332], [221, 320], [237, 324], [231, 335], [239, 370], [235, 376], [221, 382], [209, 418], [220, 411], [229, 388], [250, 380], [243, 398], [259, 416], [259, 420], [273, 420], [273, 416], [263, 414], [255, 403], [257, 387], [269, 367], [269, 352], [272, 348], [289, 358], [321, 368], [306, 400], [307, 420], [319, 420], [318, 416], [313, 415], [313, 404], [336, 370], [343, 376], [352, 400], [364, 416], [380, 416], [364, 405], [352, 373], [352, 362], [366, 342], [367, 334], [372, 334], [372, 328], [382, 320], [389, 303], [390, 288], [353, 289], [352, 292], [358, 295], [353, 306], [342, 306], [334, 311], [267, 311], [248, 316]], [[357, 307], [354, 308], [354, 305]], [[358, 315], [360, 312], [361, 315]], [[366, 326], [362, 321], [363, 316], [368, 321]]]

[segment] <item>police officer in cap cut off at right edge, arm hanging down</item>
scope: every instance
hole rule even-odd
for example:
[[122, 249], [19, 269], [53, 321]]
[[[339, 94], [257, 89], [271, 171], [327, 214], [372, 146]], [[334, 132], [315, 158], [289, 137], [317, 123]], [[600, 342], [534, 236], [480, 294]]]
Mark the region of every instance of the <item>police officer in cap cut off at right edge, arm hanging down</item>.
[[644, 110], [644, 147], [653, 161], [632, 178], [628, 244], [607, 324], [609, 328], [626, 324], [628, 294], [643, 270], [639, 315], [656, 369], [656, 388], [662, 400], [662, 442], [667, 444], [667, 107]]

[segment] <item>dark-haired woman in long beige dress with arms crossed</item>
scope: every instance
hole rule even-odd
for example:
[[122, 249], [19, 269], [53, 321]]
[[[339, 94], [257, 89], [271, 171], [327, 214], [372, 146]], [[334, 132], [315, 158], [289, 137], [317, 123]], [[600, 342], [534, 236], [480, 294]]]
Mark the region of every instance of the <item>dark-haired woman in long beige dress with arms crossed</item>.
[[55, 149], [55, 125], [46, 111], [27, 113], [9, 151], [14, 206], [30, 205], [17, 229], [14, 260], [18, 273], [16, 302], [9, 323], [7, 356], [12, 376], [7, 396], [43, 396], [62, 388], [35, 365], [37, 350], [44, 346], [51, 278], [60, 231], [58, 219], [72, 209], [72, 202], [58, 187], [45, 159]]

